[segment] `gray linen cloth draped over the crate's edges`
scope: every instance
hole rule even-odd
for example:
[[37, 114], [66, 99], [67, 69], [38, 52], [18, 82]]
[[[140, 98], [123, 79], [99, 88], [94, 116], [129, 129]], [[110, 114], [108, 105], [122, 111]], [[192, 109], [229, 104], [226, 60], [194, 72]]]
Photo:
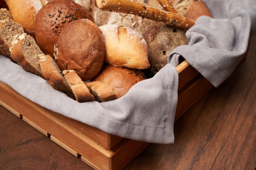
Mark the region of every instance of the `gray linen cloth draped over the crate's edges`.
[[177, 47], [168, 64], [123, 97], [109, 102], [79, 103], [54, 90], [45, 79], [24, 71], [0, 55], [0, 81], [31, 101], [105, 132], [150, 143], [174, 142], [178, 74], [182, 55], [214, 86], [232, 73], [256, 27], [255, 0], [205, 0], [213, 18], [202, 16], [187, 31], [189, 45]]

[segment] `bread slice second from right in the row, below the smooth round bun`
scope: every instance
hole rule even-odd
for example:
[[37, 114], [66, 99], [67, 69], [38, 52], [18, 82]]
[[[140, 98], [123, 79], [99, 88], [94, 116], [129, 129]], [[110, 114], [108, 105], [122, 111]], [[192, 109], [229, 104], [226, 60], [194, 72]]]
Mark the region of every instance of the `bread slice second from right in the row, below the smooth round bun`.
[[74, 70], [64, 70], [63, 75], [72, 89], [76, 101], [80, 103], [94, 101], [94, 96]]

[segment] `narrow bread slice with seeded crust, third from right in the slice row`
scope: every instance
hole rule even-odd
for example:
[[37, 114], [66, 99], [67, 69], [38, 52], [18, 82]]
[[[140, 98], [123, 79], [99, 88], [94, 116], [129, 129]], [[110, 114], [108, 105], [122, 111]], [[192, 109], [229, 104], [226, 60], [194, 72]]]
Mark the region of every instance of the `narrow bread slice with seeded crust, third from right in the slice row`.
[[72, 99], [75, 99], [75, 96], [68, 85], [64, 75], [62, 74], [60, 68], [49, 55], [41, 54], [38, 55], [40, 68], [43, 72], [43, 76], [47, 82], [56, 90], [65, 93]]

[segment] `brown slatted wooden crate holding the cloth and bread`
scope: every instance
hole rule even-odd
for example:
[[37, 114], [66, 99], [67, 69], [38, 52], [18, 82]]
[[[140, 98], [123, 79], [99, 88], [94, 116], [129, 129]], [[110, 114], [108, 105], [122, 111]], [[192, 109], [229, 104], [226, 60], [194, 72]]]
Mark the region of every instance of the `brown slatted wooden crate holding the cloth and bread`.
[[[186, 60], [177, 66], [177, 71], [175, 120], [213, 87]], [[3, 82], [0, 82], [0, 104], [96, 170], [120, 170], [149, 145], [110, 135], [43, 108]]]

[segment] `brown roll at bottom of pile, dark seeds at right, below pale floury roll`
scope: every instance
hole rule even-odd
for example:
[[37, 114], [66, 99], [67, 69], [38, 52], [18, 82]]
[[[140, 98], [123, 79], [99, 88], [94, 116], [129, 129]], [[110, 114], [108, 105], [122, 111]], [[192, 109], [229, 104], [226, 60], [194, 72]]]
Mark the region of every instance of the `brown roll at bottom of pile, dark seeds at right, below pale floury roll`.
[[104, 64], [99, 74], [92, 81], [99, 81], [112, 86], [118, 97], [125, 95], [137, 82], [146, 79], [139, 69], [117, 67]]

